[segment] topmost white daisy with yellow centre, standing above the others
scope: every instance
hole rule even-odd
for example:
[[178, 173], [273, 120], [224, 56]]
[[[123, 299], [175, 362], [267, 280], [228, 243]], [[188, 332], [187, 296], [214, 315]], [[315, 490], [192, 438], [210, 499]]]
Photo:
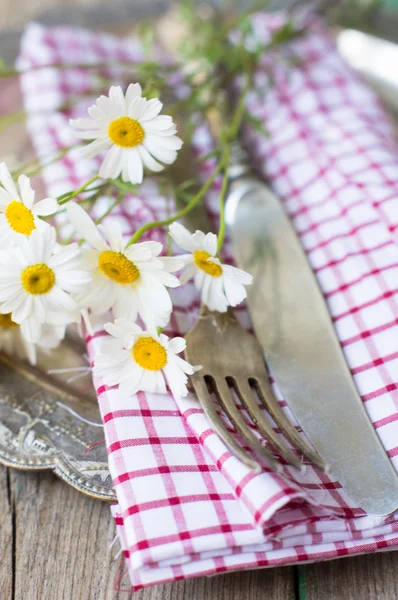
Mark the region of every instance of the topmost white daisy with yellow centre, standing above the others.
[[70, 121], [77, 137], [93, 140], [82, 156], [92, 158], [108, 150], [99, 171], [104, 179], [121, 174], [123, 181], [141, 183], [144, 167], [161, 171], [163, 164], [175, 161], [182, 146], [172, 118], [159, 115], [162, 107], [157, 98], [143, 98], [138, 83], [130, 84], [125, 95], [120, 86], [112, 86], [109, 96], [101, 96], [88, 109], [91, 119]]

